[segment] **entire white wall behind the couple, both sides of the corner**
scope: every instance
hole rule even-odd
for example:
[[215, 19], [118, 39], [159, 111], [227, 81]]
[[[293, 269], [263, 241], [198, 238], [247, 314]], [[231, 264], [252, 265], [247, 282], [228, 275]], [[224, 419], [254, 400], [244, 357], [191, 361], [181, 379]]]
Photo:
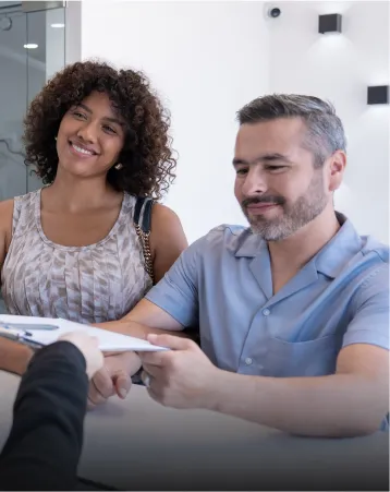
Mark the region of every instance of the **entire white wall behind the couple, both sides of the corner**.
[[[82, 3], [82, 58], [144, 69], [172, 111], [180, 160], [166, 203], [190, 241], [245, 224], [232, 190], [235, 111], [268, 92], [296, 92], [334, 103], [349, 137], [337, 207], [388, 242], [390, 107], [368, 107], [366, 87], [389, 83], [389, 3], [374, 3], [276, 2], [276, 20], [265, 2]], [[342, 13], [343, 33], [318, 34], [319, 13]]]

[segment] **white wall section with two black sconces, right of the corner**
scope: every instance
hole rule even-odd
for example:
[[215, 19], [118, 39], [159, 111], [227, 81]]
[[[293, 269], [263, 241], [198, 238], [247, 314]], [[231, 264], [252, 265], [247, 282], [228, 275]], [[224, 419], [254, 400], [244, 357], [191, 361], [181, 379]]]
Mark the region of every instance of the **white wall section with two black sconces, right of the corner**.
[[[390, 106], [367, 106], [367, 86], [387, 85], [389, 2], [276, 2], [268, 22], [270, 89], [330, 99], [349, 141], [345, 188], [336, 206], [361, 233], [389, 242]], [[342, 14], [342, 34], [318, 34], [318, 15]]]

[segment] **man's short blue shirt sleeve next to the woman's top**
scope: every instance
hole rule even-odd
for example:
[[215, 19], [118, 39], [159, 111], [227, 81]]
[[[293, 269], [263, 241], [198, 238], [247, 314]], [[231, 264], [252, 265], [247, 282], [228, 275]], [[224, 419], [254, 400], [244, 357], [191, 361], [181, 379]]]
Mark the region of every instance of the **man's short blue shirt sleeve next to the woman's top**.
[[146, 299], [174, 317], [183, 327], [198, 325], [198, 271], [202, 239], [191, 244]]

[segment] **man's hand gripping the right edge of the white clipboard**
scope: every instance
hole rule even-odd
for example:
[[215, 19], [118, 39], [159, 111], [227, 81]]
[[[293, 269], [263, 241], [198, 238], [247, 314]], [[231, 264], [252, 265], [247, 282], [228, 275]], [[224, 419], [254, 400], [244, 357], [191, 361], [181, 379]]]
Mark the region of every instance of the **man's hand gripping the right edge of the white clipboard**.
[[148, 341], [172, 350], [138, 353], [143, 381], [153, 399], [174, 408], [207, 408], [221, 372], [195, 341], [172, 335], [148, 335]]

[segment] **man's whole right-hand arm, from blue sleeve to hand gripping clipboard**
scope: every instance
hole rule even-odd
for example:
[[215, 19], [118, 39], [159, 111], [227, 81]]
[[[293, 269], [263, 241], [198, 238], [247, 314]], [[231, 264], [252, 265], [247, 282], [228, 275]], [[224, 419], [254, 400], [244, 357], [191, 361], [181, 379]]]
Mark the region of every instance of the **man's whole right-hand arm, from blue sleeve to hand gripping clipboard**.
[[[191, 340], [149, 336], [166, 352], [142, 353], [150, 396], [167, 406], [207, 408], [284, 432], [342, 437], [379, 430], [389, 412], [388, 266], [364, 283], [336, 373], [266, 377], [222, 371]], [[320, 357], [320, 356], [319, 356]]]

